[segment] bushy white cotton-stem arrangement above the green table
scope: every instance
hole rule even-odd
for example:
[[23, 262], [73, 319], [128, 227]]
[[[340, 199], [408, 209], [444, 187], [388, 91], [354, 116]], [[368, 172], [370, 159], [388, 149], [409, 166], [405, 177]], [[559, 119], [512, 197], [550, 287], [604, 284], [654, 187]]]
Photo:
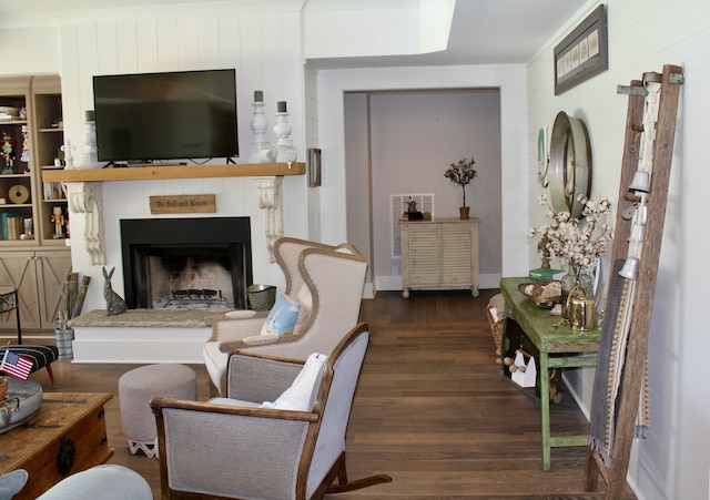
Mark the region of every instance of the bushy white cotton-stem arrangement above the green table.
[[549, 203], [547, 195], [538, 197], [540, 205], [547, 205], [547, 225], [530, 228], [530, 237], [541, 235], [550, 255], [574, 269], [588, 268], [601, 257], [607, 244], [612, 239], [611, 225], [604, 222], [611, 210], [611, 202], [602, 197], [598, 202], [579, 195], [579, 203], [585, 207], [581, 212], [586, 221], [570, 216], [569, 212], [557, 212]]

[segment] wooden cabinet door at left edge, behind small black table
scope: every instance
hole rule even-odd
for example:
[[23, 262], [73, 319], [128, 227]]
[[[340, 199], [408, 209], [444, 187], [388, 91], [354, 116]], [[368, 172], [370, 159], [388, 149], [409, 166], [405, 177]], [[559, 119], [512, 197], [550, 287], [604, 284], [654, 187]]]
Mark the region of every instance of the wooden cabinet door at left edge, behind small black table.
[[[23, 330], [40, 328], [34, 252], [0, 253], [0, 283], [18, 289], [20, 324]], [[16, 330], [14, 314], [0, 317], [2, 328]]]

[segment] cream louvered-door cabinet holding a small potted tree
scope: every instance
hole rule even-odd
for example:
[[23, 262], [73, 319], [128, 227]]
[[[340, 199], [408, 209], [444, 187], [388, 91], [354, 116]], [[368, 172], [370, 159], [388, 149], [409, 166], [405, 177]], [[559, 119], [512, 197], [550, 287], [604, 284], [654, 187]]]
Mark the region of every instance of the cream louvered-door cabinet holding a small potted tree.
[[470, 288], [478, 296], [478, 218], [402, 221], [402, 296], [412, 288]]

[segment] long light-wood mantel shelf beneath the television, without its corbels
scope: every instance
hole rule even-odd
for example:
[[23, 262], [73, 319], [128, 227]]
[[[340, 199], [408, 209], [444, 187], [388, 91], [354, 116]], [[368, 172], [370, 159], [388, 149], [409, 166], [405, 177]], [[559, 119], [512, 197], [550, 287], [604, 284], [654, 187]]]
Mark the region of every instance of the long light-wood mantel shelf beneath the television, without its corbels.
[[303, 175], [305, 163], [243, 163], [224, 165], [131, 166], [121, 169], [45, 170], [44, 182], [151, 181], [200, 177]]

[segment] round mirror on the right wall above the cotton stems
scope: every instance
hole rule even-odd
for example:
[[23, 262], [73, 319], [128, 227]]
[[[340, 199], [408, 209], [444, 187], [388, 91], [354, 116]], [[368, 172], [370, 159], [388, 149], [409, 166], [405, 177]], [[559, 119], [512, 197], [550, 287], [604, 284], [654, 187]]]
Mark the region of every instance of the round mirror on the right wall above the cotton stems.
[[552, 126], [548, 175], [552, 207], [579, 218], [584, 205], [577, 197], [591, 191], [591, 150], [585, 124], [564, 111]]

